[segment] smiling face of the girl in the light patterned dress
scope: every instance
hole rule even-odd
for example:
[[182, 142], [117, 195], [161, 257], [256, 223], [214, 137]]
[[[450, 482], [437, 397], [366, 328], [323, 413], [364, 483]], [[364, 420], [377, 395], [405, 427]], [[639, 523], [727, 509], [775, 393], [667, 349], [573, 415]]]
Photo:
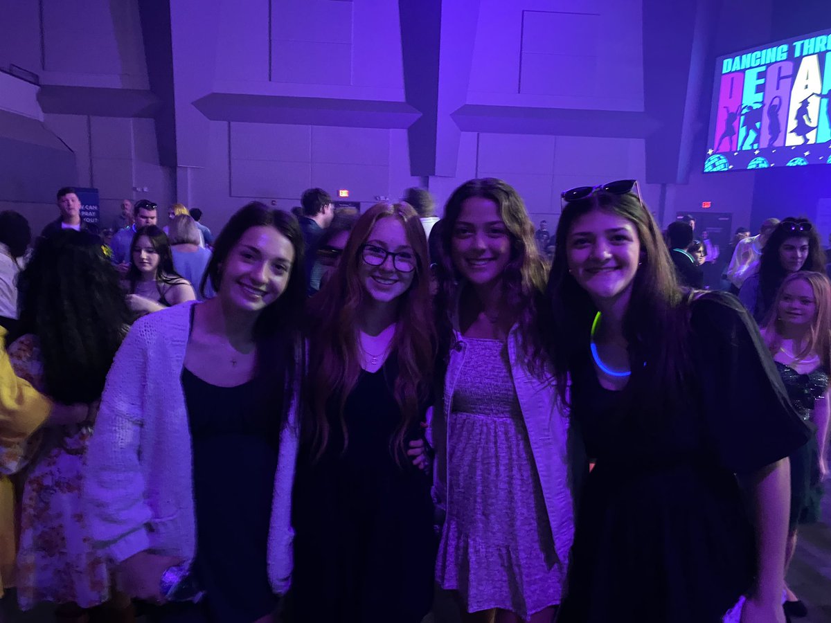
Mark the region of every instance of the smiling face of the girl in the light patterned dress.
[[494, 201], [470, 197], [462, 202], [450, 256], [460, 275], [475, 285], [502, 278], [511, 258], [511, 239]]

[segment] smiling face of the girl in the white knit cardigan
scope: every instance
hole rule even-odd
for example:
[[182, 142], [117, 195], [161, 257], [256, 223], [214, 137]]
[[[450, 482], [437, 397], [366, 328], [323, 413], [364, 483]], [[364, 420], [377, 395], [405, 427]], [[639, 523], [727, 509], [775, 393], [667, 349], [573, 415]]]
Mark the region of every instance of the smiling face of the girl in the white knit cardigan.
[[248, 312], [260, 312], [288, 286], [294, 262], [291, 241], [268, 225], [248, 228], [222, 262], [219, 297]]

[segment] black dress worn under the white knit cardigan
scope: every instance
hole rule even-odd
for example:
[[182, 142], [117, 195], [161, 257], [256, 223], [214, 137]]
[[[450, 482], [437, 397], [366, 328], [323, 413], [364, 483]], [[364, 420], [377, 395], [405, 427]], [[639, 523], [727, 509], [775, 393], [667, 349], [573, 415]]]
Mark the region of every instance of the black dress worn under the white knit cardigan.
[[273, 612], [268, 527], [277, 470], [278, 414], [255, 407], [257, 381], [210, 385], [186, 368], [182, 387], [193, 447], [196, 559], [215, 623], [250, 623]]

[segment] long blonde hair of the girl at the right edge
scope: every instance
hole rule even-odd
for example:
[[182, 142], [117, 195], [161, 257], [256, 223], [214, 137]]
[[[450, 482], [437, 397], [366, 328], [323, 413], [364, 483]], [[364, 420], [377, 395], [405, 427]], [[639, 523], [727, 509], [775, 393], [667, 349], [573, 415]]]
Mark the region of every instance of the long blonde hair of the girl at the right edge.
[[811, 320], [811, 327], [808, 331], [808, 339], [800, 352], [794, 352], [794, 356], [804, 358], [816, 353], [819, 361], [826, 370], [831, 369], [831, 282], [821, 272], [798, 271], [792, 272], [784, 278], [779, 292], [776, 292], [773, 307], [770, 308], [768, 322], [762, 330], [765, 342], [773, 354], [779, 351], [782, 346], [782, 321], [779, 319], [779, 302], [782, 300], [784, 289], [791, 282], [798, 279], [808, 282], [814, 292], [814, 318]]

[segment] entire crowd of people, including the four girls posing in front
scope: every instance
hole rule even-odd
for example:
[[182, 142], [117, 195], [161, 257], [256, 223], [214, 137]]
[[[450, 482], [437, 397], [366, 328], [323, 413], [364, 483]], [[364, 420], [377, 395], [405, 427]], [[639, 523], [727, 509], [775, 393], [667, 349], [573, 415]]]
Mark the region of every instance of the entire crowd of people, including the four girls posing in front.
[[805, 616], [785, 572], [831, 419], [813, 223], [720, 248], [661, 231], [635, 180], [563, 191], [552, 232], [500, 179], [441, 218], [418, 188], [300, 203], [215, 238], [148, 199], [98, 231], [71, 188], [35, 239], [0, 213], [19, 607], [418, 623], [438, 587], [467, 622]]

